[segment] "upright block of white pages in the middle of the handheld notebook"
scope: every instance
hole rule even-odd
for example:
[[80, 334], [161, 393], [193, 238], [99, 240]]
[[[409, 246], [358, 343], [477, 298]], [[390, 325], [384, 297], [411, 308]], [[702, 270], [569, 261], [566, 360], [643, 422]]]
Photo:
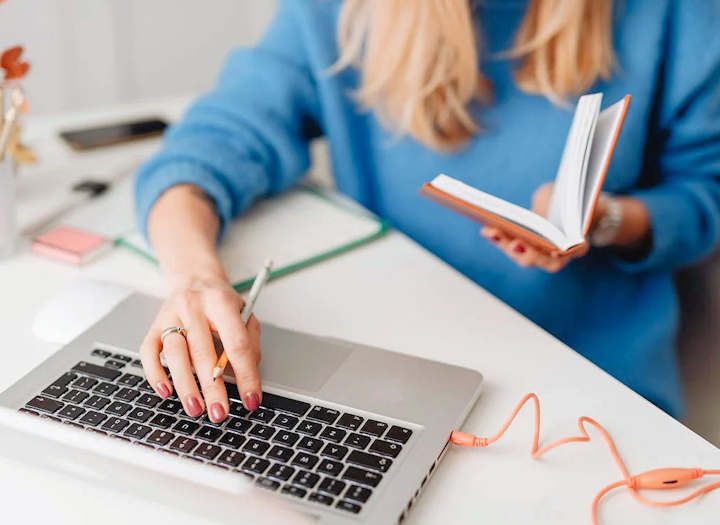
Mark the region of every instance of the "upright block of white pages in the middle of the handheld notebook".
[[602, 93], [585, 95], [578, 100], [548, 208], [548, 220], [577, 242], [583, 237], [583, 181], [601, 102]]

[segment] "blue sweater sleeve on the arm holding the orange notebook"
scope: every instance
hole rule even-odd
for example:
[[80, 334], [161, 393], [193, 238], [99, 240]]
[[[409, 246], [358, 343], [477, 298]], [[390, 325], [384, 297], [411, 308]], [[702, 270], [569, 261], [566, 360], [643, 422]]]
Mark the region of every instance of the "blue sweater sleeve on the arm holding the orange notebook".
[[[682, 5], [680, 5], [682, 4]], [[652, 245], [630, 272], [677, 268], [710, 253], [720, 233], [720, 9], [676, 1], [651, 138], [647, 186], [630, 192], [648, 209]]]

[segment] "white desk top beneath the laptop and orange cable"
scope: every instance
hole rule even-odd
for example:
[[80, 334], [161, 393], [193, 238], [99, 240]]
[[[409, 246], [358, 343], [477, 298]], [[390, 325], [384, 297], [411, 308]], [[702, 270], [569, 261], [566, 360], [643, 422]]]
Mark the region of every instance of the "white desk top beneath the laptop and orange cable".
[[[31, 121], [29, 136], [43, 164], [26, 175], [24, 209], [32, 208], [31, 201], [42, 198], [38, 196], [65, 172], [50, 175], [54, 165], [67, 167], [77, 158], [52, 138], [57, 126], [158, 108], [167, 110], [159, 113], [174, 116], [181, 106], [182, 101], [138, 104]], [[77, 162], [85, 170], [106, 162], [122, 164], [127, 151], [92, 154]], [[31, 180], [32, 172], [46, 175]], [[113, 210], [116, 213], [129, 220], [129, 212]], [[112, 226], [114, 217], [108, 223], [105, 214], [95, 224]], [[43, 301], [72, 278], [105, 279], [156, 293], [163, 290], [154, 267], [121, 250], [76, 269], [36, 258], [22, 248], [14, 258], [0, 262], [4, 335], [0, 389], [54, 350], [34, 338], [31, 321]], [[298, 298], [303, 308], [294, 306]], [[485, 391], [464, 426], [466, 431], [494, 433], [520, 397], [533, 390], [544, 409], [541, 442], [575, 434], [576, 418], [588, 415], [615, 437], [631, 473], [664, 466], [720, 468], [717, 448], [398, 233], [270, 283], [257, 313], [278, 325], [481, 371]], [[531, 433], [527, 411], [492, 448], [450, 450], [408, 523], [589, 523], [595, 493], [620, 477], [604, 442], [593, 434], [597, 439], [590, 444], [566, 446], [533, 461]], [[8, 465], [0, 461], [3, 522], [85, 523], [100, 516], [104, 523], [204, 522], [202, 509], [197, 515], [181, 514], [152, 501], [130, 501], [128, 496], [29, 468], [10, 473]], [[677, 497], [677, 493], [653, 496]], [[46, 504], [40, 506], [38, 501]], [[640, 506], [617, 491], [601, 506], [601, 522], [607, 524], [716, 523], [719, 514], [720, 493], [660, 510]]]

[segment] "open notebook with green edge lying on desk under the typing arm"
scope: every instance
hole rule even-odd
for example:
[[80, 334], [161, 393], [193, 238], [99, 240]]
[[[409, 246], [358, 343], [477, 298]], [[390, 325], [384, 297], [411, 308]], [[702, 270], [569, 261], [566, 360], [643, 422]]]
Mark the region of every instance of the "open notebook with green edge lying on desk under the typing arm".
[[[218, 252], [230, 282], [240, 291], [250, 287], [265, 259], [274, 261], [271, 278], [280, 277], [369, 243], [386, 231], [383, 221], [357, 204], [300, 187], [256, 203], [228, 227]], [[139, 232], [116, 243], [155, 261]]]

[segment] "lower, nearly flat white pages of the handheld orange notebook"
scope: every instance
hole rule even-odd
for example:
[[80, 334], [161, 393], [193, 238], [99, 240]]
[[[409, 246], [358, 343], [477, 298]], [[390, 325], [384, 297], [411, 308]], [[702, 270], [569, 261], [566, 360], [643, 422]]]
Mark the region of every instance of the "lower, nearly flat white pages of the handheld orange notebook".
[[526, 210], [522, 206], [517, 206], [516, 204], [473, 188], [448, 175], [438, 175], [430, 184], [434, 188], [463, 200], [472, 206], [487, 210], [527, 230], [537, 233], [561, 250], [567, 250], [575, 244], [568, 242], [565, 235], [545, 217]]

